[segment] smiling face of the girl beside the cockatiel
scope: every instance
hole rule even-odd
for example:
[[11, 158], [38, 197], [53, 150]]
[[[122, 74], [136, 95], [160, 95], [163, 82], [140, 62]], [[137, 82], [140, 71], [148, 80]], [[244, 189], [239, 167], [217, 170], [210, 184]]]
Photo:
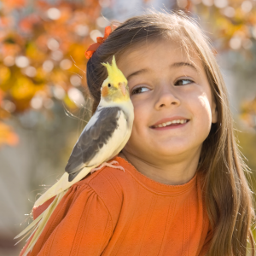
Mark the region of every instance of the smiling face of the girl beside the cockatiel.
[[[218, 119], [200, 59], [179, 44], [160, 41], [127, 50], [117, 64], [128, 80], [135, 115], [124, 152], [152, 163], [200, 154]], [[173, 119], [188, 122], [164, 126]]]

